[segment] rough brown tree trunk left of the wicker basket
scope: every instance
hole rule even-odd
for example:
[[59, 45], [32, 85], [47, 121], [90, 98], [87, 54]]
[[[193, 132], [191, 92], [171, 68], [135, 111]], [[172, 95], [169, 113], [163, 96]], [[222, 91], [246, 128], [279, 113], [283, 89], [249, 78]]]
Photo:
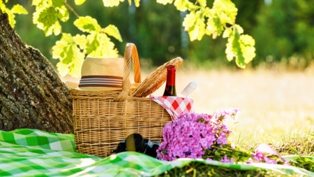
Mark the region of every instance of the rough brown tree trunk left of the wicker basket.
[[73, 133], [72, 99], [52, 64], [0, 10], [0, 129]]

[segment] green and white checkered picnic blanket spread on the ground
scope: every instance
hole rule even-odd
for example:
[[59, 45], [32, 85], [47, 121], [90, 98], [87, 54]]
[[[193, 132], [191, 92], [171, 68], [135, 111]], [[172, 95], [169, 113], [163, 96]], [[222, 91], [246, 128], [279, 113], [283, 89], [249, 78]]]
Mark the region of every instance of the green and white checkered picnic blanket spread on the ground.
[[311, 171], [276, 164], [227, 164], [195, 159], [166, 162], [133, 152], [103, 159], [75, 153], [73, 134], [55, 134], [37, 129], [0, 131], [0, 176], [156, 176], [190, 162], [230, 169], [261, 168], [283, 174], [314, 176]]

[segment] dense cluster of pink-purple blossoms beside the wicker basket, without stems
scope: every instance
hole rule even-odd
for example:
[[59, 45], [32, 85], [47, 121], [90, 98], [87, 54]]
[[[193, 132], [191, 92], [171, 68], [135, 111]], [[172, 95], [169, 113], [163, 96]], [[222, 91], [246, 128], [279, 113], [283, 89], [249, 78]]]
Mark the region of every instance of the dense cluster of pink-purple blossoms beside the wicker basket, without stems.
[[[223, 124], [226, 116], [237, 111], [219, 109], [214, 115], [182, 113], [163, 129], [163, 143], [158, 148], [160, 160], [202, 158], [211, 146], [227, 144], [231, 130]], [[230, 161], [230, 160], [229, 160]]]

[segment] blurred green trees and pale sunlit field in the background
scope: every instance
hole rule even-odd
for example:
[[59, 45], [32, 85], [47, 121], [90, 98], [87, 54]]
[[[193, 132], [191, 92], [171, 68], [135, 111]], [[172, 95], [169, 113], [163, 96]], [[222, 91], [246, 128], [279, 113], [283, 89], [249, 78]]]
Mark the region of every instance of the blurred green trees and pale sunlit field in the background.
[[[142, 0], [139, 8], [134, 4], [128, 6], [127, 1], [118, 7], [105, 8], [100, 0], [87, 1], [83, 6], [67, 2], [80, 15], [96, 18], [101, 27], [116, 25], [124, 41], [120, 43], [114, 38], [112, 41], [120, 55], [124, 54], [126, 43], [135, 43], [142, 64], [142, 80], [157, 66], [182, 57], [185, 62], [177, 71], [177, 92], [194, 80], [198, 87], [191, 97], [197, 113], [239, 108], [239, 122], [230, 125], [234, 129], [234, 141], [299, 139], [299, 135], [290, 135], [292, 132], [304, 132], [313, 139], [313, 0], [232, 0], [238, 8], [237, 24], [244, 28], [245, 34], [255, 38], [256, 57], [246, 69], [238, 69], [234, 61], [227, 62], [225, 38], [213, 40], [204, 36], [202, 41], [189, 41], [182, 27], [186, 13], [173, 5]], [[51, 48], [60, 37], [45, 37], [36, 28], [32, 23], [35, 7], [31, 1], [10, 0], [10, 3], [21, 3], [29, 10], [29, 15], [16, 16], [15, 29], [22, 40], [38, 48], [53, 65], [57, 64], [52, 59]], [[207, 1], [207, 6], [212, 4], [212, 0]], [[69, 22], [61, 23], [63, 32], [80, 33], [73, 25], [75, 19], [70, 13]], [[154, 94], [163, 94], [163, 89], [164, 85]]]

